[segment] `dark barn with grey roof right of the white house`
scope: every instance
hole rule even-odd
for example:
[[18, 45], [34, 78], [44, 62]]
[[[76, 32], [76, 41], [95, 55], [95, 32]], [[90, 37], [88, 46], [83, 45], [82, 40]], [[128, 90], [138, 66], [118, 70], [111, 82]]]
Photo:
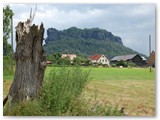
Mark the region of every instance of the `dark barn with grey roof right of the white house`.
[[144, 66], [146, 65], [146, 59], [145, 57], [141, 57], [138, 54], [132, 54], [132, 55], [123, 55], [123, 56], [115, 56], [111, 59], [111, 64], [116, 64], [120, 60], [127, 61], [127, 62], [133, 62], [137, 66]]

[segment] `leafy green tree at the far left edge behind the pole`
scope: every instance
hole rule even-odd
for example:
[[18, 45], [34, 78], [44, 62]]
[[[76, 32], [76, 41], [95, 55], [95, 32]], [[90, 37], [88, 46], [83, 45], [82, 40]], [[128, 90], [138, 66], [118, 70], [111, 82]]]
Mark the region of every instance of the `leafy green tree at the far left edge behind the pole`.
[[10, 9], [10, 6], [7, 5], [3, 8], [3, 55], [10, 55], [12, 48], [8, 44], [7, 39], [10, 38], [11, 29], [11, 19], [14, 15], [13, 11]]

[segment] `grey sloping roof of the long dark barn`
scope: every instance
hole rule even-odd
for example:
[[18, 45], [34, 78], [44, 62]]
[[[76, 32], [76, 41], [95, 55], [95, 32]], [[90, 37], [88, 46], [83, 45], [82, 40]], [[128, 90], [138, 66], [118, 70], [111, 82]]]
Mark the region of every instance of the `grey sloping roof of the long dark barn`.
[[132, 54], [132, 55], [123, 55], [123, 56], [115, 56], [114, 58], [111, 59], [111, 61], [120, 61], [120, 60], [131, 60], [133, 59], [137, 54]]

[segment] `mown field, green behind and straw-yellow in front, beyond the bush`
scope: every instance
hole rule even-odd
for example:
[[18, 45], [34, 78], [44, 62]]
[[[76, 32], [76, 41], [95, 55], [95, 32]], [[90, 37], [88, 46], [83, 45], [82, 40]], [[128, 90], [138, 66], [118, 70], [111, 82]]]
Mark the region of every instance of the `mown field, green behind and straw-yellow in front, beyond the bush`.
[[[53, 68], [48, 67], [45, 77]], [[58, 68], [55, 68], [58, 69]], [[93, 102], [110, 104], [129, 116], [155, 115], [155, 70], [147, 68], [83, 68], [90, 70], [91, 81], [83, 95]], [[4, 76], [4, 96], [7, 94], [12, 76]]]

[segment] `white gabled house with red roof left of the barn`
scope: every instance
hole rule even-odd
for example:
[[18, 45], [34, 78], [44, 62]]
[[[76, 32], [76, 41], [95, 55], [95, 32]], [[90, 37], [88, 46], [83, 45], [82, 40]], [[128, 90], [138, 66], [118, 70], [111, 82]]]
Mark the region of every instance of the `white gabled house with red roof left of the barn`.
[[96, 54], [93, 56], [90, 56], [89, 59], [93, 64], [103, 64], [109, 66], [109, 60], [103, 55], [103, 54]]

